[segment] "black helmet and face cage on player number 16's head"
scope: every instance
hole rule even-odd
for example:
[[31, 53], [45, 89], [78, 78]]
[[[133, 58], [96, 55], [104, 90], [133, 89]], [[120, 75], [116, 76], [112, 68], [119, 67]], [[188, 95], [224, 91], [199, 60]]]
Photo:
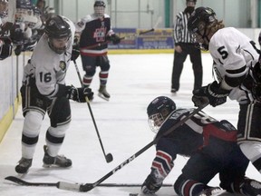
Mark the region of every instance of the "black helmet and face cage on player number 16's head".
[[[63, 54], [69, 45], [69, 40], [72, 38], [70, 25], [60, 15], [54, 15], [46, 21], [44, 33], [48, 36], [48, 44], [50, 48], [57, 54]], [[54, 39], [63, 39], [64, 45], [61, 47], [54, 46]]]

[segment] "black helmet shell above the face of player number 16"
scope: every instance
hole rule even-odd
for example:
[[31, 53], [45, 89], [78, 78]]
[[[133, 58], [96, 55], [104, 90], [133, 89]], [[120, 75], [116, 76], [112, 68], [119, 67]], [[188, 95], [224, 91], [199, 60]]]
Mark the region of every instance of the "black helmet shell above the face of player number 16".
[[71, 27], [63, 20], [60, 15], [55, 15], [46, 21], [44, 33], [49, 38], [63, 38], [70, 37], [72, 35]]

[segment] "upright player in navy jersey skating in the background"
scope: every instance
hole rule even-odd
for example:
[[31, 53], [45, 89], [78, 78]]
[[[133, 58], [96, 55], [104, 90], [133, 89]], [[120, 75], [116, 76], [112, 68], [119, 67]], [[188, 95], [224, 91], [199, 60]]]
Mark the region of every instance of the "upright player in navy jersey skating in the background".
[[96, 72], [96, 66], [100, 66], [100, 89], [98, 95], [109, 101], [111, 95], [107, 92], [106, 84], [108, 80], [110, 62], [107, 56], [108, 42], [119, 44], [121, 39], [114, 34], [111, 29], [111, 18], [104, 14], [105, 3], [95, 1], [94, 13], [86, 15], [75, 26], [76, 33], [80, 33], [80, 52], [82, 57], [82, 67], [85, 71], [83, 84], [89, 87], [92, 77]]

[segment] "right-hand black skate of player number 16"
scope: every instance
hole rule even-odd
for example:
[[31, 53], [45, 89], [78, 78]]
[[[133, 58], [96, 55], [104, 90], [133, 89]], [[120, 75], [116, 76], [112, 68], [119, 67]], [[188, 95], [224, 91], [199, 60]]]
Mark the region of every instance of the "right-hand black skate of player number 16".
[[44, 156], [43, 156], [43, 167], [57, 166], [62, 168], [67, 168], [72, 166], [72, 160], [67, 159], [63, 155], [57, 155], [52, 157], [47, 152], [47, 146], [43, 146]]

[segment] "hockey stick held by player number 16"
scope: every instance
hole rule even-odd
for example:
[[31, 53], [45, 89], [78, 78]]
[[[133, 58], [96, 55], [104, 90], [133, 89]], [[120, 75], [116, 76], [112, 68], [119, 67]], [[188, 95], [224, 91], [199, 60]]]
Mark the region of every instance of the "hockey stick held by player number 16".
[[[81, 83], [81, 85], [82, 85], [82, 87], [83, 87], [81, 74], [80, 74], [80, 72], [79, 72], [79, 68], [78, 68], [78, 65], [76, 64], [76, 61], [75, 61], [75, 60], [73, 60], [73, 64], [75, 65], [75, 69], [76, 69], [76, 72], [77, 72], [79, 81], [80, 81], [80, 83]], [[97, 133], [97, 135], [98, 135], [98, 139], [99, 139], [99, 142], [100, 142], [100, 144], [101, 144], [102, 152], [103, 152], [103, 155], [104, 155], [104, 157], [105, 157], [105, 160], [106, 160], [106, 162], [112, 162], [112, 160], [113, 160], [112, 154], [111, 154], [111, 153], [105, 154], [105, 151], [104, 151], [104, 148], [103, 148], [103, 145], [102, 145], [102, 139], [101, 139], [100, 133], [99, 133], [99, 131], [98, 131], [98, 127], [97, 127], [97, 125], [96, 125], [96, 122], [95, 122], [95, 119], [94, 119], [94, 116], [93, 116], [93, 113], [92, 113], [92, 108], [91, 108], [90, 100], [88, 99], [87, 96], [85, 96], [85, 100], [86, 100], [86, 103], [87, 103], [87, 105], [88, 105], [89, 111], [90, 111], [90, 113], [91, 113], [92, 122], [93, 122], [93, 124], [94, 124], [95, 131], [96, 131], [96, 133]]]

